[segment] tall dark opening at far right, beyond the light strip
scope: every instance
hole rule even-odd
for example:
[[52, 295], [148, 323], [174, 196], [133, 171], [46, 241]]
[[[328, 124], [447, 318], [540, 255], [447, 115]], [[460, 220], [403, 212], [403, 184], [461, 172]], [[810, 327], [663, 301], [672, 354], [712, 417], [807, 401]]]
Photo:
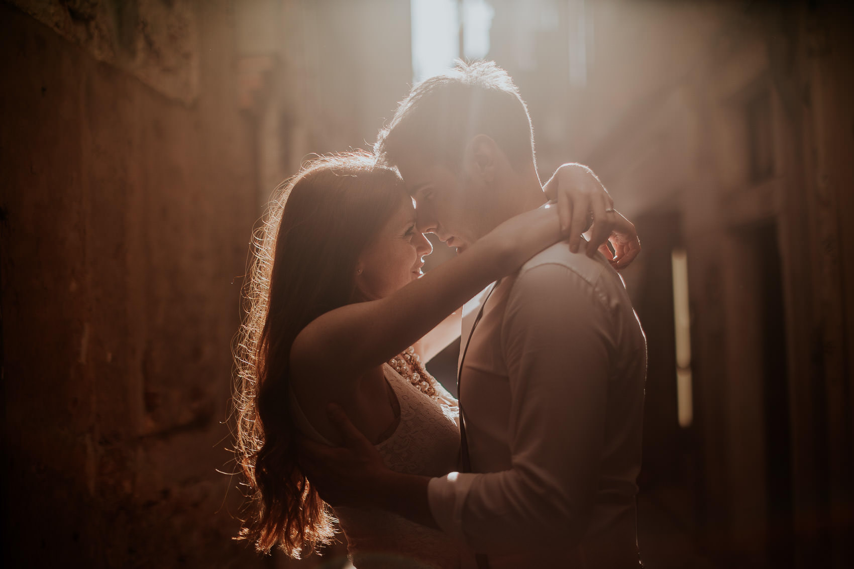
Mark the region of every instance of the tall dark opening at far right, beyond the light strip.
[[[740, 344], [740, 372], [744, 384], [754, 384], [757, 398], [748, 400], [746, 413], [754, 414], [761, 438], [753, 449], [757, 455], [745, 468], [761, 468], [761, 477], [740, 484], [745, 491], [762, 493], [764, 512], [754, 519], [762, 531], [740, 524], [734, 534], [735, 553], [746, 554], [752, 566], [793, 567], [793, 493], [791, 419], [786, 345], [786, 314], [783, 304], [782, 266], [775, 220], [740, 226], [733, 234], [737, 250], [738, 290], [733, 294], [743, 308], [740, 330], [730, 331]], [[729, 344], [733, 347], [733, 343]], [[743, 424], [747, 425], [747, 423]], [[746, 457], [740, 455], [742, 459]], [[737, 502], [733, 512], [738, 513]], [[749, 533], [746, 533], [748, 531]], [[743, 548], [748, 550], [741, 550]]]

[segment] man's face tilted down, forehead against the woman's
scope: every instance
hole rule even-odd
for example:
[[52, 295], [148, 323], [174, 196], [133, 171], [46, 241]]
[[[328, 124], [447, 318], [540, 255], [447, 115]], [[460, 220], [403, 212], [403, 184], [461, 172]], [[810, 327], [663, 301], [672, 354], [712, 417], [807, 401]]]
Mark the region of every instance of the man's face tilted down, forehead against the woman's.
[[415, 200], [419, 231], [436, 233], [458, 252], [483, 236], [483, 192], [470, 178], [418, 157], [401, 161], [397, 168]]

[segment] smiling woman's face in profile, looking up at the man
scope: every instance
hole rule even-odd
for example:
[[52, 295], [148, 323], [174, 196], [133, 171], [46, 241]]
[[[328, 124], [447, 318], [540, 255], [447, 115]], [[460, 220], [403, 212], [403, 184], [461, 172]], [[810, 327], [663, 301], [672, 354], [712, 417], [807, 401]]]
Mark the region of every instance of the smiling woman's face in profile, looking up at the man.
[[392, 214], [356, 264], [356, 287], [367, 300], [389, 296], [418, 279], [424, 256], [433, 246], [415, 225], [412, 198], [401, 191], [401, 207]]

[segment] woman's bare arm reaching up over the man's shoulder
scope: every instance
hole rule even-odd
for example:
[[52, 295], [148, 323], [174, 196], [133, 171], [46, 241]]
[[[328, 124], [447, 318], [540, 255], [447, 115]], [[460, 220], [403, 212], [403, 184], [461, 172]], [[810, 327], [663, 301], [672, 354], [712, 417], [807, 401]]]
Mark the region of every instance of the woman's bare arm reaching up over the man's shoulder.
[[293, 376], [349, 383], [407, 349], [486, 285], [560, 239], [555, 208], [506, 220], [464, 253], [394, 294], [348, 304], [313, 320], [291, 349]]

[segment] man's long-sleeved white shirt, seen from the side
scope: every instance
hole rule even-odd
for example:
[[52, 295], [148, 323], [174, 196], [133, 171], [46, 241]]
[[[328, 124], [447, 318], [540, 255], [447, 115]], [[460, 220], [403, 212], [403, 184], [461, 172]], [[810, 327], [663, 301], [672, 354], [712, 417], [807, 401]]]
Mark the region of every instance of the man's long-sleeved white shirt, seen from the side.
[[[464, 310], [461, 355], [485, 296]], [[646, 339], [604, 257], [557, 243], [502, 279], [463, 366], [472, 472], [430, 480], [442, 531], [492, 569], [636, 552]]]

